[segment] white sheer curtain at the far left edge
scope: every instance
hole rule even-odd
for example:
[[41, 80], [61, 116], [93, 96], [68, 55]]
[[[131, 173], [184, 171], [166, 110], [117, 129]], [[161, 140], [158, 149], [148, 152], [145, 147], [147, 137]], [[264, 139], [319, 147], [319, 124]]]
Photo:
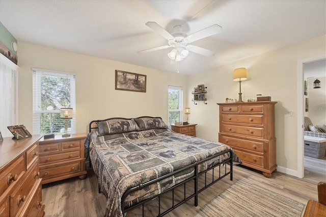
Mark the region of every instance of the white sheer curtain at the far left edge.
[[0, 132], [12, 137], [7, 126], [17, 124], [18, 66], [0, 53]]

